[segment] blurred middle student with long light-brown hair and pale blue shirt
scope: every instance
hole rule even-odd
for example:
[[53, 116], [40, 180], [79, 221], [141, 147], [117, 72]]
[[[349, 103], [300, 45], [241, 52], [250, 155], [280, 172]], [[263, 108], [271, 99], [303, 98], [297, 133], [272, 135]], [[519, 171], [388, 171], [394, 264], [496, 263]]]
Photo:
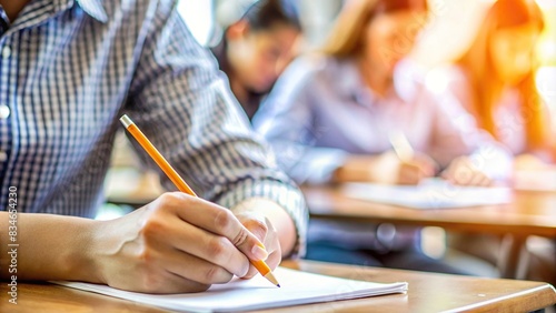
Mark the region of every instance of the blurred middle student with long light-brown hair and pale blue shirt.
[[[322, 53], [297, 59], [280, 77], [254, 125], [297, 182], [416, 184], [444, 170], [453, 182], [480, 185], [507, 170], [505, 151], [405, 60], [427, 12], [425, 0], [348, 2]], [[414, 158], [393, 152], [396, 133]], [[496, 172], [495, 162], [506, 165]], [[390, 226], [311, 222], [307, 256], [457, 272], [420, 253], [418, 230]]]

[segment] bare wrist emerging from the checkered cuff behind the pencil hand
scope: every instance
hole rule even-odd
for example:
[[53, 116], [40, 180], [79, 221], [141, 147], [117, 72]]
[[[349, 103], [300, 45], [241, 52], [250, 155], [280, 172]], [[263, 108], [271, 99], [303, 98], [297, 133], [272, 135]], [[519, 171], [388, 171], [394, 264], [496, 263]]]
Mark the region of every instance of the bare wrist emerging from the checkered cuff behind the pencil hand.
[[254, 198], [239, 203], [231, 210], [236, 214], [252, 212], [268, 219], [278, 232], [282, 256], [291, 254], [297, 241], [297, 230], [292, 218], [284, 208], [274, 201]]

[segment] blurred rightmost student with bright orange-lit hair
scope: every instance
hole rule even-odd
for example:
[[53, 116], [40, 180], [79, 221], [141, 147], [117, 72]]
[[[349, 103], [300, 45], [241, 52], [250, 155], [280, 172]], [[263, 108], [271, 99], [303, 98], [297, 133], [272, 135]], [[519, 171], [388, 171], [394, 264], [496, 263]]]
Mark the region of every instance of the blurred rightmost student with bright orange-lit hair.
[[[535, 48], [543, 28], [536, 1], [494, 2], [446, 80], [477, 123], [513, 154], [550, 162], [556, 137], [550, 135], [550, 114], [535, 84]], [[537, 166], [535, 159], [520, 160]]]

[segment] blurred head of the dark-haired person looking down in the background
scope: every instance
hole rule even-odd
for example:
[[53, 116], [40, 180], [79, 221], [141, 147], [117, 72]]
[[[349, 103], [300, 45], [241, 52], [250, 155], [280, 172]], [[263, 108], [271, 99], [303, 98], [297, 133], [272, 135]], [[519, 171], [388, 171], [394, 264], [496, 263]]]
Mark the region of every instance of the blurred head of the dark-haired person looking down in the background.
[[249, 120], [294, 58], [300, 34], [298, 10], [291, 1], [259, 0], [226, 27], [221, 41], [211, 49]]

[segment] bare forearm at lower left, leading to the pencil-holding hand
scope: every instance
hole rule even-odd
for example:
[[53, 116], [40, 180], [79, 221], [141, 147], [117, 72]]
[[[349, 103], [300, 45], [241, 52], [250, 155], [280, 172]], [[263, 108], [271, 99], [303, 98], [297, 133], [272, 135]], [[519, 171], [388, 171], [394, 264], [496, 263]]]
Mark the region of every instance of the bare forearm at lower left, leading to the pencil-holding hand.
[[[8, 212], [0, 212], [0, 230], [3, 232], [0, 235], [1, 277], [17, 275], [21, 280], [100, 282], [96, 276], [90, 249], [98, 221], [19, 213], [17, 235], [10, 236], [8, 230], [13, 224], [10, 224]], [[17, 239], [17, 242], [12, 242], [11, 238]], [[19, 245], [8, 245], [12, 243]], [[10, 251], [16, 253], [8, 254]], [[17, 266], [9, 267], [11, 264]]]

